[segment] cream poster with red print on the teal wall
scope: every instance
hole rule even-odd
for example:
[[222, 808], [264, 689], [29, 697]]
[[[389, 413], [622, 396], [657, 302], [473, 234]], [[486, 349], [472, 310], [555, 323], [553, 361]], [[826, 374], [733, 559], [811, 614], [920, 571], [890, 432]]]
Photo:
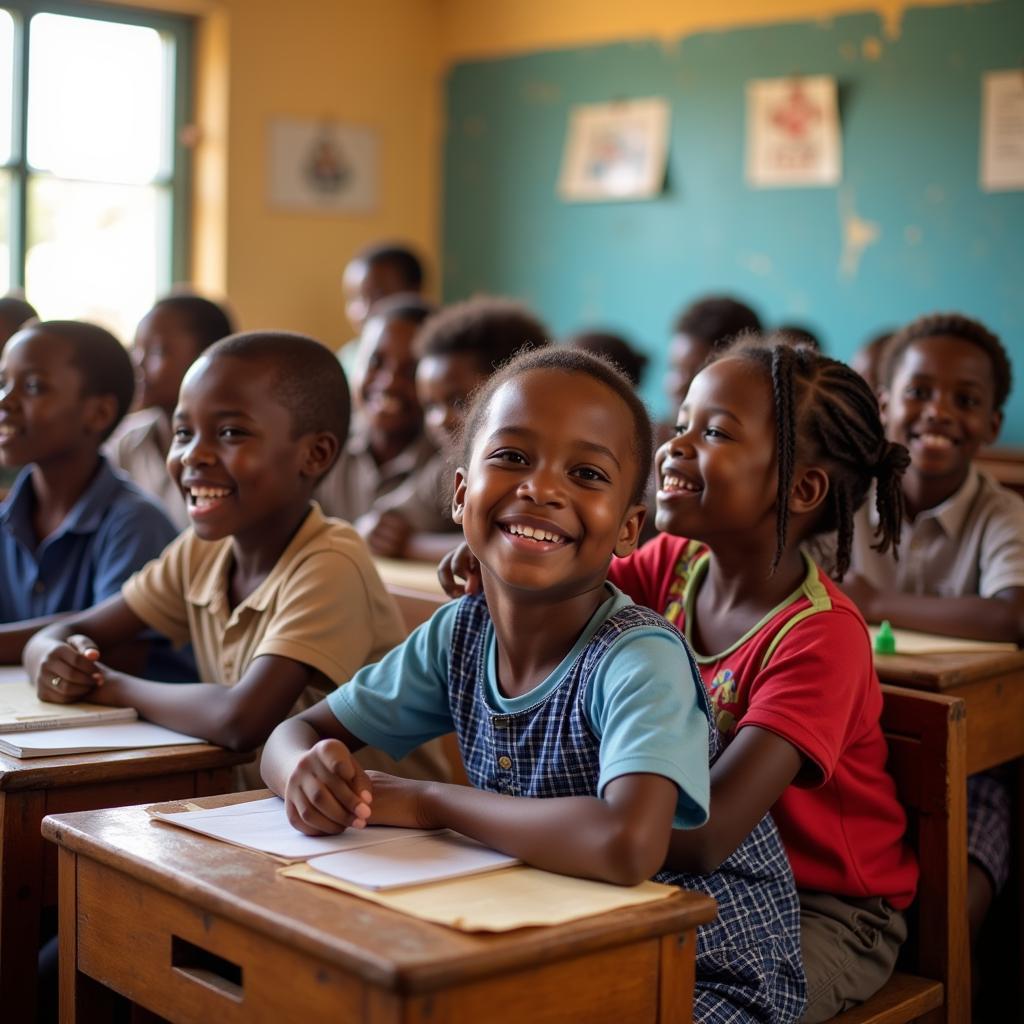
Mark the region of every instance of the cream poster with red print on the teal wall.
[[843, 176], [836, 79], [746, 84], [746, 180], [755, 188], [837, 185]]

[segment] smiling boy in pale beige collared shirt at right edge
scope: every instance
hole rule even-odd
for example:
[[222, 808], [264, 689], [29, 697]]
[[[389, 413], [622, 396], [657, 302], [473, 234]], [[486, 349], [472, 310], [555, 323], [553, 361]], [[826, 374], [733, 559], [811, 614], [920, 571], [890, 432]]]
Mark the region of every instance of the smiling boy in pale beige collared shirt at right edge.
[[[1024, 502], [974, 465], [1002, 424], [1013, 384], [999, 339], [957, 313], [922, 316], [893, 335], [882, 416], [905, 444], [898, 560], [876, 551], [873, 502], [857, 512], [843, 589], [868, 622], [1024, 643]], [[1010, 796], [991, 774], [968, 779], [968, 902], [977, 937], [1010, 870]]]

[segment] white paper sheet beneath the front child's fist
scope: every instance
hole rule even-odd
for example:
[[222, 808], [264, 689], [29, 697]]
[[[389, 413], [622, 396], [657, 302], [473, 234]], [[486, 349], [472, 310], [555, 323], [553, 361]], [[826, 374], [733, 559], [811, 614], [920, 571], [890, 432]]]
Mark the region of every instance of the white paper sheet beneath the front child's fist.
[[339, 850], [357, 850], [396, 840], [434, 835], [422, 828], [370, 825], [367, 828], [346, 829], [340, 836], [304, 836], [289, 824], [285, 815], [285, 802], [279, 797], [203, 811], [182, 811], [175, 814], [157, 811], [153, 816], [283, 860], [306, 860]]

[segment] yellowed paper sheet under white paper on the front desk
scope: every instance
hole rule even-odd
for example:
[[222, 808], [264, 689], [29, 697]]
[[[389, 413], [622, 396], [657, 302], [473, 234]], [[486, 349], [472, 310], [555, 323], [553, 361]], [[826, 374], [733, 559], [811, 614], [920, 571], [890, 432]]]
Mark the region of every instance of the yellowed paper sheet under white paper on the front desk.
[[514, 928], [562, 925], [624, 906], [652, 903], [679, 892], [675, 886], [658, 882], [612, 886], [525, 865], [385, 892], [350, 885], [308, 864], [293, 864], [282, 868], [281, 873], [463, 932], [508, 932]]

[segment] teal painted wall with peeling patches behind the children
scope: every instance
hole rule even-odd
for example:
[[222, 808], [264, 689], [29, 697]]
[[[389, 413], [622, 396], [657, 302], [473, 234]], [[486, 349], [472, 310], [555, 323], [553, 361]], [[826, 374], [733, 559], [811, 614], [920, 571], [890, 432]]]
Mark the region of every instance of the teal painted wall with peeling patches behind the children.
[[[864, 14], [459, 65], [446, 85], [444, 297], [517, 296], [559, 335], [625, 332], [652, 356], [644, 392], [658, 415], [670, 325], [701, 293], [748, 298], [768, 324], [805, 323], [840, 358], [881, 328], [957, 309], [1017, 361], [1001, 440], [1022, 444], [1024, 193], [978, 185], [981, 75], [1024, 74], [1022, 61], [1024, 0], [996, 0], [911, 9], [895, 40]], [[793, 74], [839, 81], [838, 188], [744, 183], [744, 84]], [[569, 109], [655, 95], [672, 105], [664, 195], [562, 203]], [[850, 276], [844, 204], [881, 227]]]

